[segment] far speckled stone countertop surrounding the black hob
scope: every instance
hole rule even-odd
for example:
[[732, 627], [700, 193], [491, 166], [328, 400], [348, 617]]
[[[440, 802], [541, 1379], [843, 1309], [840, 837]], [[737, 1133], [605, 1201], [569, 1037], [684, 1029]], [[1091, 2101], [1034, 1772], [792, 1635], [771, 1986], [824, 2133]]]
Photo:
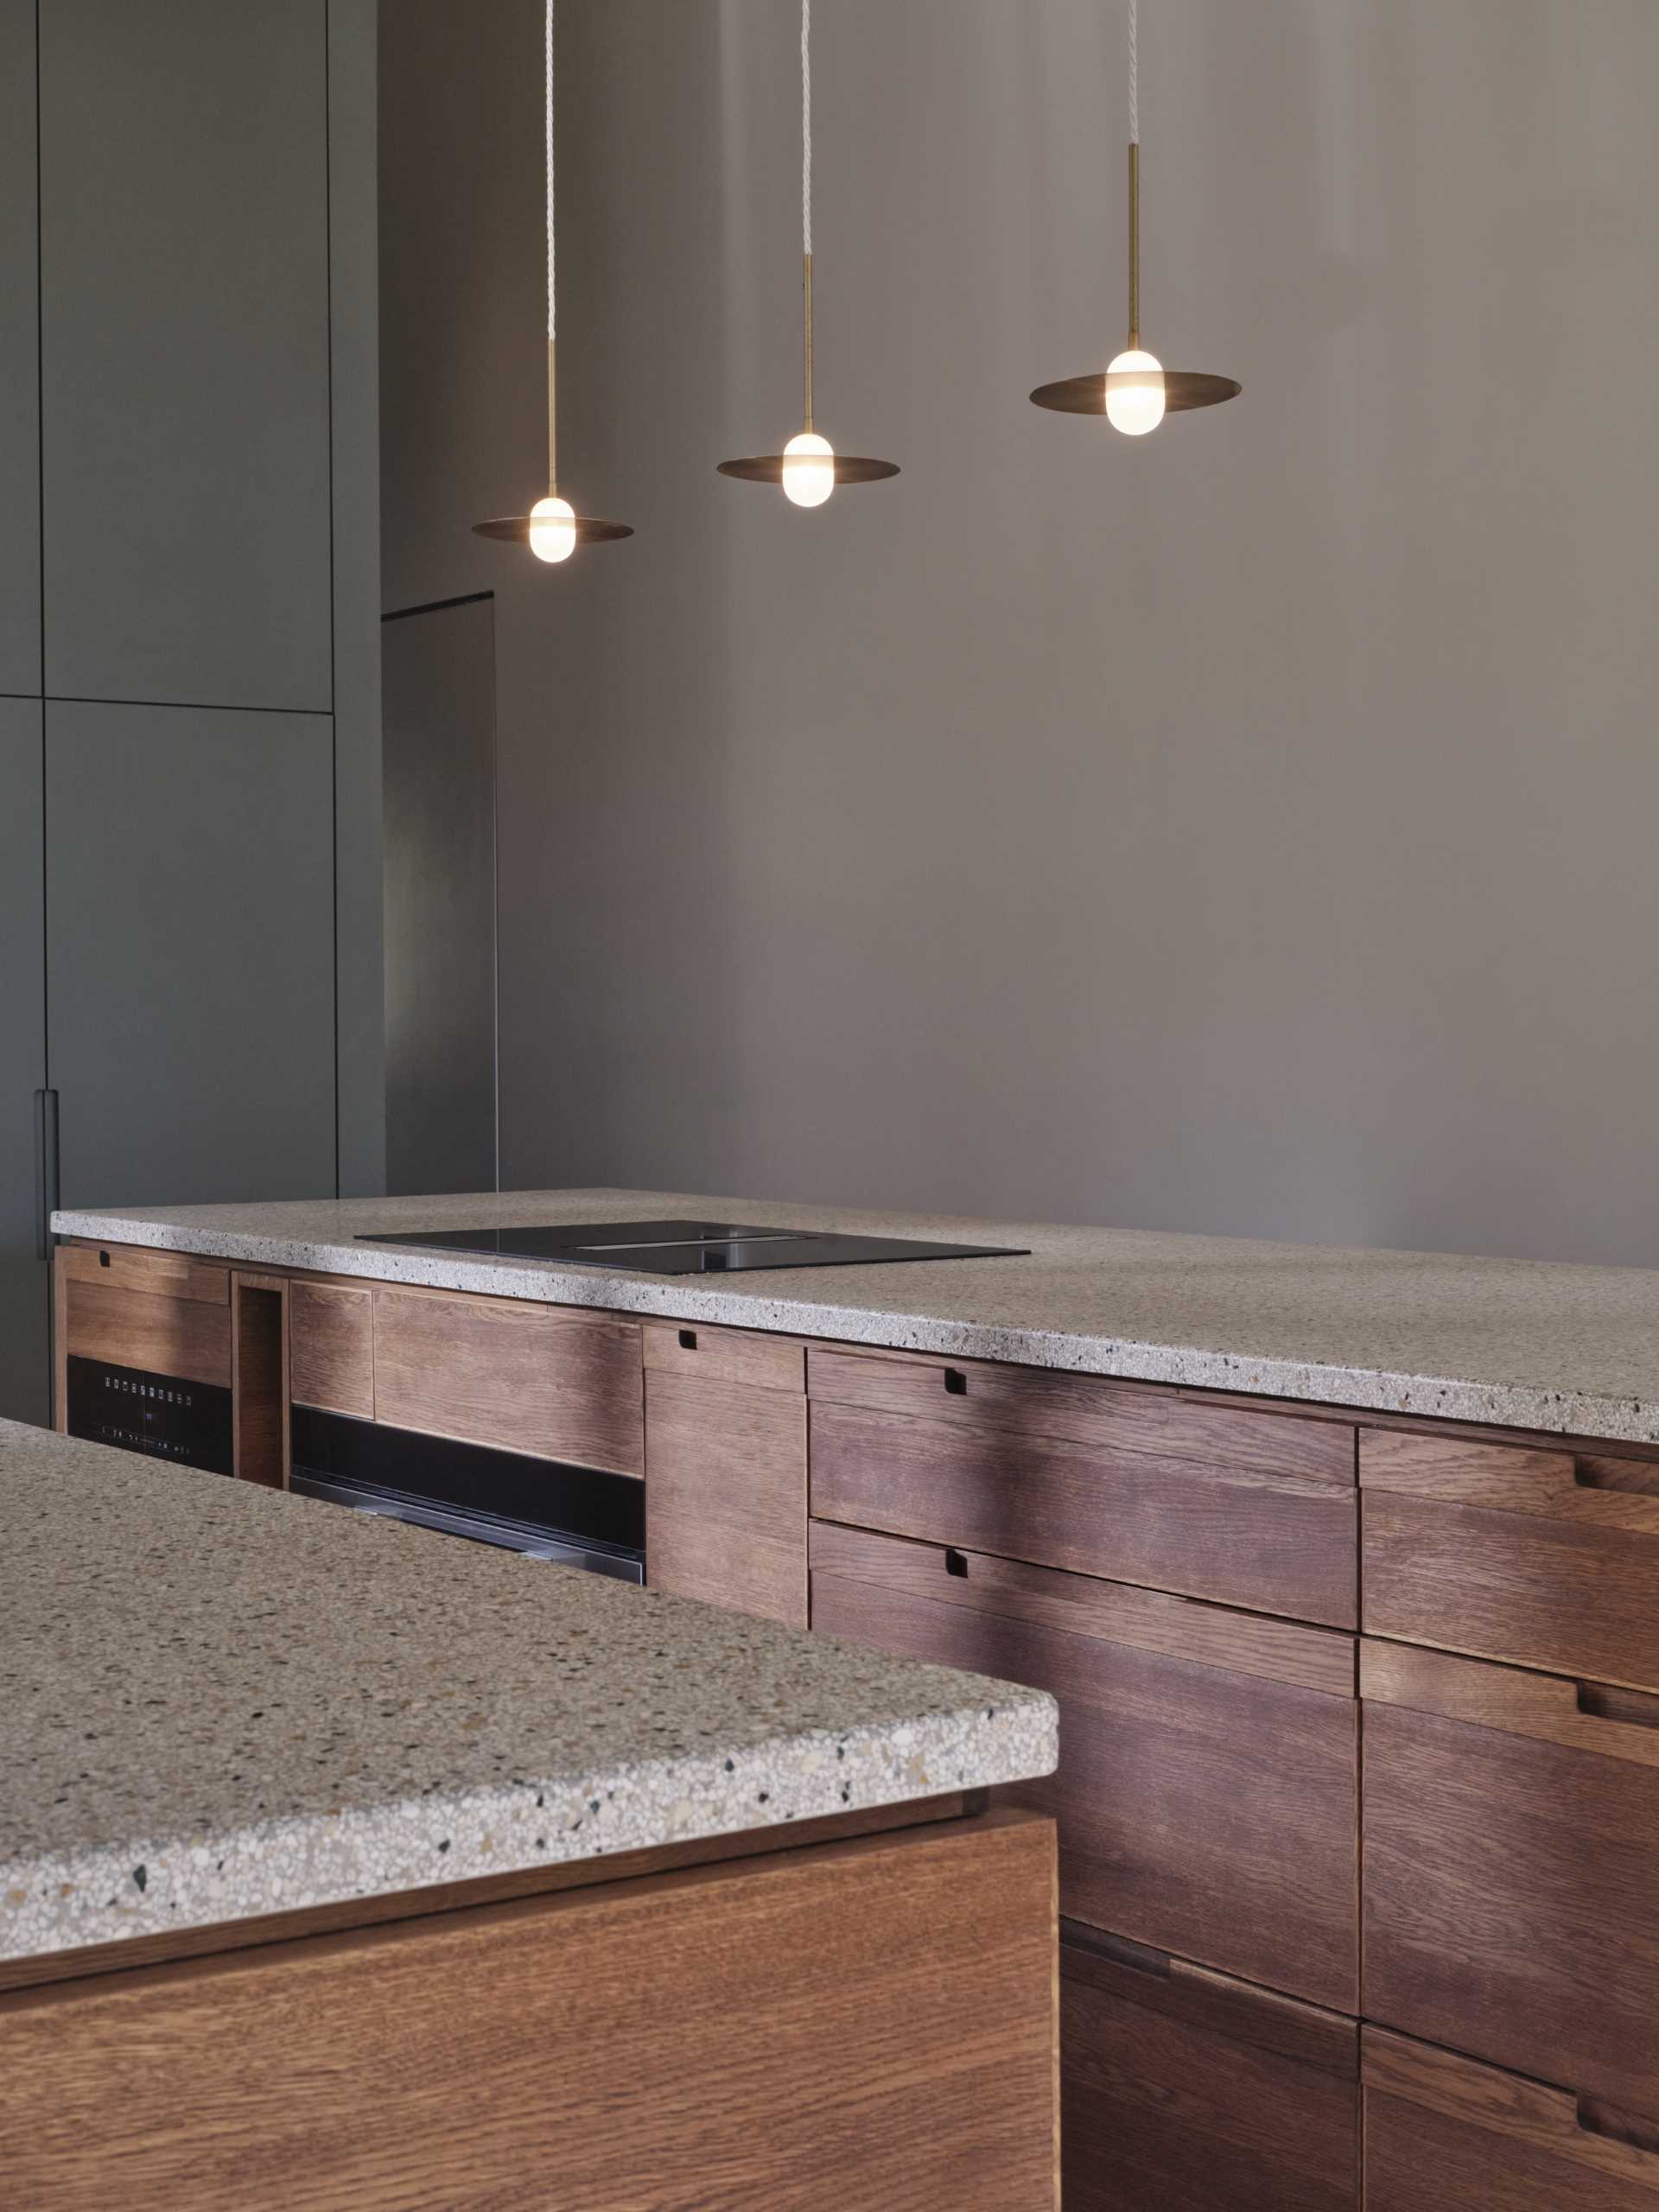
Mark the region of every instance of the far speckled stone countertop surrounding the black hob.
[[[361, 1230], [703, 1217], [1031, 1245], [1031, 1259], [641, 1276], [361, 1245]], [[69, 1237], [1190, 1389], [1659, 1444], [1659, 1270], [1031, 1228], [661, 1190], [55, 1214]]]

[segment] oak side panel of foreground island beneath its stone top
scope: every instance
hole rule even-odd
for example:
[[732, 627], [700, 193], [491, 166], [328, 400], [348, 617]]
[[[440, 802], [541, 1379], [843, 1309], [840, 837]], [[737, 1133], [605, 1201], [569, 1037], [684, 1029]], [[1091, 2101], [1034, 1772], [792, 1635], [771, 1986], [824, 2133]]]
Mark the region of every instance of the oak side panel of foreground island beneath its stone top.
[[55, 2212], [1042, 2212], [1053, 1829], [989, 1816], [0, 2000]]

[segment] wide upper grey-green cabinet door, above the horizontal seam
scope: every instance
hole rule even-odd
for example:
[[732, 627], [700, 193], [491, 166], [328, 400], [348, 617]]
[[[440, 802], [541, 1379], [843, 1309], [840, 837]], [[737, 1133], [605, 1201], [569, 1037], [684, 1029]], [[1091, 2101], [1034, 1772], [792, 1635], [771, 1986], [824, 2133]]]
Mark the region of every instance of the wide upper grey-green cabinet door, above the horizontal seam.
[[332, 710], [327, 252], [325, 0], [40, 9], [49, 695]]

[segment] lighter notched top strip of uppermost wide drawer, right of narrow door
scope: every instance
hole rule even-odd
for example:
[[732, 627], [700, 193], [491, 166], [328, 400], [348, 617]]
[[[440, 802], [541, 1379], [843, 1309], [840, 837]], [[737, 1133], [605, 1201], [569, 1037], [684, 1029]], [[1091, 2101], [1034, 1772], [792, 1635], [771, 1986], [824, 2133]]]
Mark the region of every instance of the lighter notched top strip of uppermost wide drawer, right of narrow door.
[[1102, 1451], [1152, 1451], [1168, 1460], [1354, 1482], [1354, 1429], [1296, 1413], [1197, 1402], [1155, 1383], [1117, 1383], [1000, 1360], [880, 1360], [858, 1352], [807, 1358], [807, 1389], [838, 1405], [1020, 1436], [1068, 1438]]

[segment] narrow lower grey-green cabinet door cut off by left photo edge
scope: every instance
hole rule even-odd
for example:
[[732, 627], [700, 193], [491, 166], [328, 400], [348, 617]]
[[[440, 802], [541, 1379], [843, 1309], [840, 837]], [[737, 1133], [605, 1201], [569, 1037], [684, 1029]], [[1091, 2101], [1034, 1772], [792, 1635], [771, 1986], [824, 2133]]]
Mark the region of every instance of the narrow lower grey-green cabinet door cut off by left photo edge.
[[35, 1091], [46, 1082], [40, 701], [0, 699], [0, 1416], [46, 1420]]

